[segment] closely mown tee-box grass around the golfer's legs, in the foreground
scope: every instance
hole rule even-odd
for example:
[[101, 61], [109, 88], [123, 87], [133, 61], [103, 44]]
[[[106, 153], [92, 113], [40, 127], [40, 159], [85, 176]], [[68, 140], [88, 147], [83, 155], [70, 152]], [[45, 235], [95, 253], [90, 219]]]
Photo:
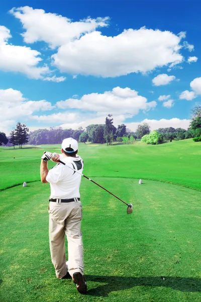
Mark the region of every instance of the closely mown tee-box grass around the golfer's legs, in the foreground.
[[[1, 301], [200, 301], [201, 193], [135, 179], [95, 178], [134, 212], [82, 180], [88, 292], [57, 280], [48, 242], [49, 185], [1, 192]], [[164, 279], [163, 279], [164, 278]]]

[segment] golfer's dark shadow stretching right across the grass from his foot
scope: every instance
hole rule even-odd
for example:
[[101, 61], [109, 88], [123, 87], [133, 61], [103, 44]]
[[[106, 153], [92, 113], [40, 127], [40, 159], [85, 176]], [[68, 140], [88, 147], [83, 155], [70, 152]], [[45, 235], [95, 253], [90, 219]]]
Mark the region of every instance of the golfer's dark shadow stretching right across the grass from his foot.
[[103, 282], [96, 288], [89, 289], [88, 295], [108, 296], [111, 291], [129, 289], [135, 286], [164, 286], [175, 290], [201, 292], [201, 279], [185, 277], [118, 277], [85, 275], [86, 281]]

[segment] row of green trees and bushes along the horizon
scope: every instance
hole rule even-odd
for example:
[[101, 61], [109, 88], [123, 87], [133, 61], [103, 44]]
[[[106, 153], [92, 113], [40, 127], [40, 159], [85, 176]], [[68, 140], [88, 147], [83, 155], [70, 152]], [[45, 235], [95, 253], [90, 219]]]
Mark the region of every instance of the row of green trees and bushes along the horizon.
[[131, 131], [125, 124], [113, 125], [112, 114], [106, 117], [105, 124], [91, 124], [83, 129], [79, 127], [76, 130], [63, 129], [61, 127], [50, 127], [50, 129], [38, 129], [29, 132], [26, 124], [17, 123], [16, 129], [10, 132], [9, 137], [4, 132], [0, 132], [0, 145], [16, 145], [22, 148], [23, 144], [34, 145], [56, 144], [66, 137], [73, 137], [79, 142], [107, 143], [113, 144], [114, 141], [129, 143], [136, 139], [143, 138], [147, 143], [162, 143], [163, 141], [181, 140], [201, 136], [201, 106], [195, 106], [191, 111], [191, 122], [187, 130], [182, 128], [159, 128], [150, 131], [147, 123], [139, 124], [136, 131]]

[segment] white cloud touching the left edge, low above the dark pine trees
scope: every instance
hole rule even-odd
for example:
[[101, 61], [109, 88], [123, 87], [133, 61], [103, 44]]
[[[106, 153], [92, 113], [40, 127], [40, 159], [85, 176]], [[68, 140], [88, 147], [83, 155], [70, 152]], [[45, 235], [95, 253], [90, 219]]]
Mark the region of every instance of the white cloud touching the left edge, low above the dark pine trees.
[[0, 90], [1, 121], [16, 121], [18, 118], [31, 116], [37, 111], [52, 110], [54, 106], [45, 100], [29, 101], [23, 94], [12, 88]]

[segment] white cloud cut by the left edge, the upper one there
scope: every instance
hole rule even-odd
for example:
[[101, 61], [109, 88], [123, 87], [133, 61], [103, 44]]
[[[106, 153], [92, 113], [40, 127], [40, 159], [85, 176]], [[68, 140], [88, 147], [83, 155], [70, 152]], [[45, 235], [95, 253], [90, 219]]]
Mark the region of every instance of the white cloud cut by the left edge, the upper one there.
[[22, 72], [33, 79], [41, 79], [49, 72], [46, 65], [38, 66], [42, 61], [41, 53], [26, 46], [8, 43], [10, 30], [0, 26], [0, 69], [4, 71]]

